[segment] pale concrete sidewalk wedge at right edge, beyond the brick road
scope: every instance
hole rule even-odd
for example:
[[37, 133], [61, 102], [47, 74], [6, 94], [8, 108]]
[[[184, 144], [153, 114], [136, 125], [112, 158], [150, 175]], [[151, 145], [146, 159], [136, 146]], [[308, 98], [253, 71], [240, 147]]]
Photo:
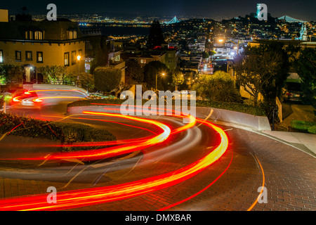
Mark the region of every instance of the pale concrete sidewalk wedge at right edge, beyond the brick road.
[[283, 141], [316, 157], [316, 135], [288, 131], [262, 131], [263, 134]]

